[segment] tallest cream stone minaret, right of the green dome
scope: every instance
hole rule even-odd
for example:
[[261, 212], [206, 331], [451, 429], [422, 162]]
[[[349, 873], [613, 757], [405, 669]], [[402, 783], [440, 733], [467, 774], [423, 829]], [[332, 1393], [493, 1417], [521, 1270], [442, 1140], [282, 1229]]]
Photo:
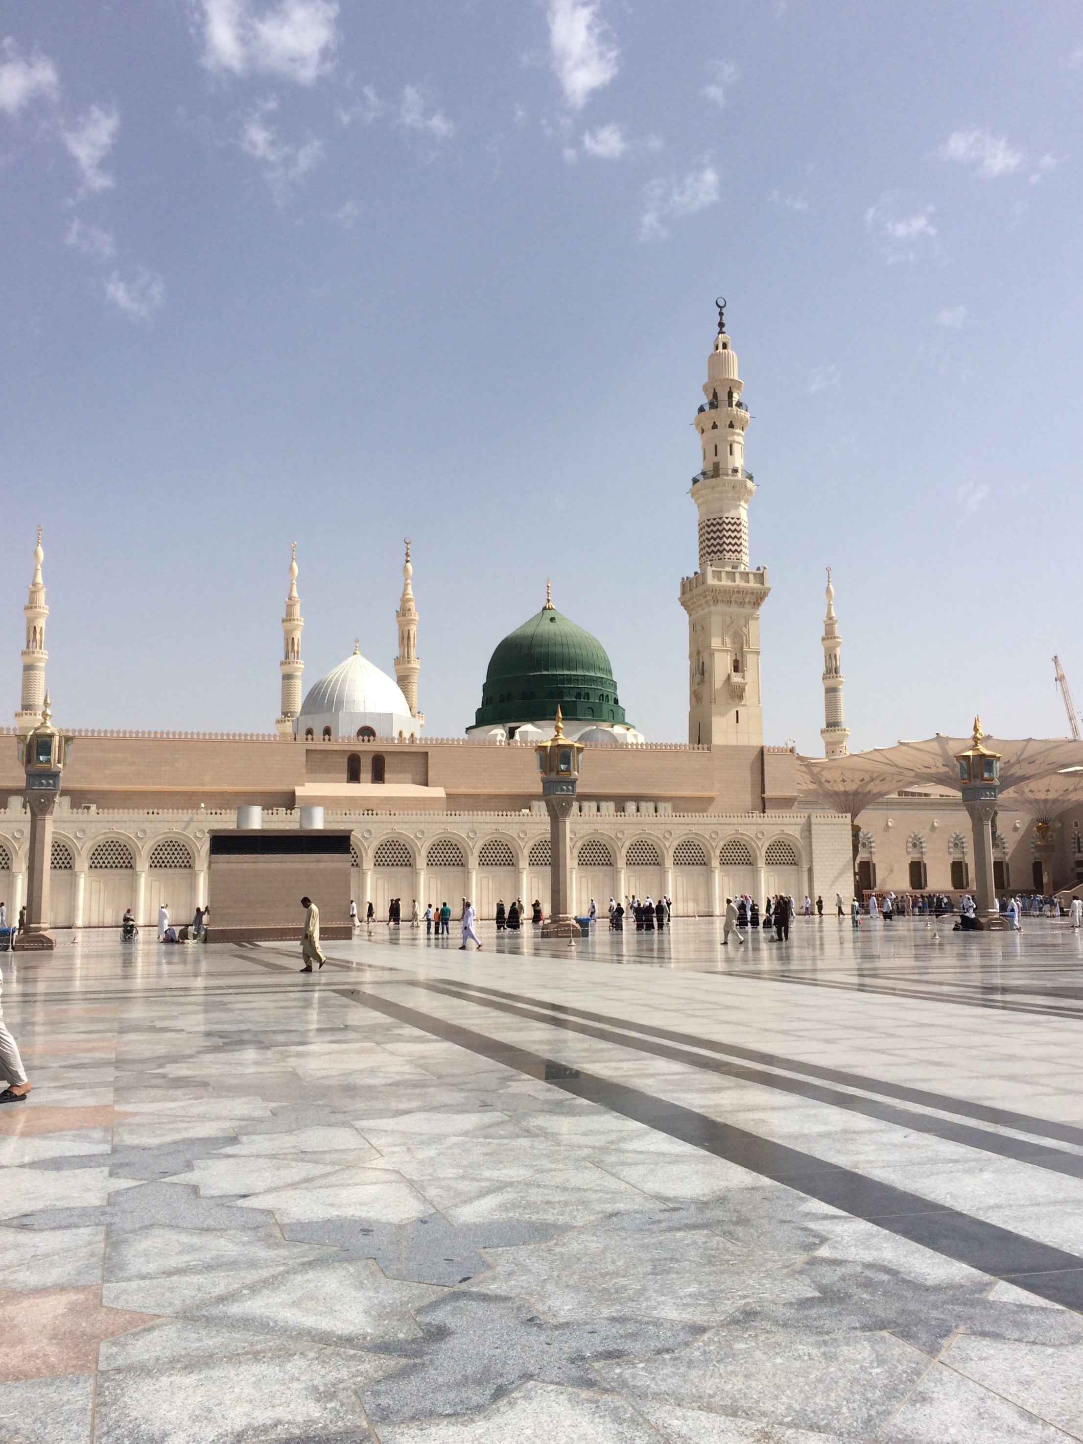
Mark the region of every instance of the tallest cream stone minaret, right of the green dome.
[[699, 510], [699, 570], [680, 583], [689, 614], [689, 742], [762, 747], [760, 608], [771, 588], [765, 566], [748, 566], [748, 503], [755, 495], [745, 471], [748, 407], [725, 299], [716, 305], [706, 403], [696, 413], [703, 469], [690, 491]]

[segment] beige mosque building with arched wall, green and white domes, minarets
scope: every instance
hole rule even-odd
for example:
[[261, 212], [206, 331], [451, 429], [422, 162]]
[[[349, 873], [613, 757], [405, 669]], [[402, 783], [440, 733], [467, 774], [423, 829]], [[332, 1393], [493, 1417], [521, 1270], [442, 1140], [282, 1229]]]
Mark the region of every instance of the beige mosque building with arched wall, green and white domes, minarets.
[[[767, 567], [749, 565], [755, 485], [745, 469], [742, 390], [719, 309], [695, 416], [697, 566], [679, 589], [689, 622], [687, 742], [644, 738], [601, 641], [549, 595], [497, 643], [464, 735], [427, 736], [409, 543], [394, 677], [355, 644], [306, 690], [295, 549], [271, 731], [68, 729], [75, 742], [55, 813], [52, 924], [111, 927], [129, 905], [147, 923], [163, 901], [183, 918], [206, 901], [209, 833], [235, 826], [237, 809], [253, 806], [264, 829], [318, 819], [348, 829], [362, 913], [371, 901], [386, 917], [390, 898], [407, 915], [414, 900], [458, 910], [466, 897], [482, 917], [513, 898], [539, 898], [549, 911], [549, 819], [533, 744], [552, 735], [557, 706], [566, 735], [585, 745], [572, 825], [579, 911], [593, 900], [604, 913], [611, 897], [631, 895], [664, 894], [677, 915], [719, 914], [742, 892], [761, 901], [774, 892], [849, 897], [849, 816], [801, 800], [794, 749], [762, 739], [760, 608], [770, 585]], [[40, 536], [33, 560], [20, 708], [0, 735], [0, 901], [9, 917], [25, 897], [29, 842], [16, 739], [38, 722], [46, 693]], [[835, 667], [830, 725], [839, 732], [842, 676], [827, 635], [825, 658]], [[69, 716], [71, 700], [53, 710]], [[835, 741], [845, 747], [845, 729]]]

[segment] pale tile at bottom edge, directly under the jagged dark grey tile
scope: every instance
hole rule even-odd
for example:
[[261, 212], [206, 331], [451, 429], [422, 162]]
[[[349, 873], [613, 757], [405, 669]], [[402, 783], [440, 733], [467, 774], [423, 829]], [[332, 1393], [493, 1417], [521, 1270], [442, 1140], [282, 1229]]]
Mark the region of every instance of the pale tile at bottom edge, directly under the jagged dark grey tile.
[[481, 1414], [380, 1430], [383, 1444], [660, 1444], [657, 1432], [614, 1395], [526, 1383]]

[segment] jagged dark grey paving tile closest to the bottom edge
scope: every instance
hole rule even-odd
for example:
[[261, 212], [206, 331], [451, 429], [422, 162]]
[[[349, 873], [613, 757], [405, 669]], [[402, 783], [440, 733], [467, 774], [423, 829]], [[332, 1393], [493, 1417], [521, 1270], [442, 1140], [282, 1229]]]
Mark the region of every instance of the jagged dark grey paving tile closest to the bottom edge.
[[451, 1292], [416, 1313], [425, 1336], [383, 1349], [407, 1367], [362, 1391], [377, 1432], [390, 1424], [484, 1409], [530, 1380], [595, 1389], [593, 1362], [679, 1349], [700, 1330], [656, 1320], [549, 1324], [518, 1300]]

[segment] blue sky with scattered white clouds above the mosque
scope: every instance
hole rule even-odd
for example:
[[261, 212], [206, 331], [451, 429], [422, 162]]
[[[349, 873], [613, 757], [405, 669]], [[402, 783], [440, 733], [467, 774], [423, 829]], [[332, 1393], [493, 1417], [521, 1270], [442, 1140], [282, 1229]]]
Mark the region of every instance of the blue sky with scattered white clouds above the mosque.
[[692, 417], [754, 417], [765, 739], [1066, 729], [1083, 13], [988, 0], [0, 3], [0, 712], [45, 526], [58, 721], [267, 731], [391, 670], [430, 735], [553, 579], [686, 738]]

